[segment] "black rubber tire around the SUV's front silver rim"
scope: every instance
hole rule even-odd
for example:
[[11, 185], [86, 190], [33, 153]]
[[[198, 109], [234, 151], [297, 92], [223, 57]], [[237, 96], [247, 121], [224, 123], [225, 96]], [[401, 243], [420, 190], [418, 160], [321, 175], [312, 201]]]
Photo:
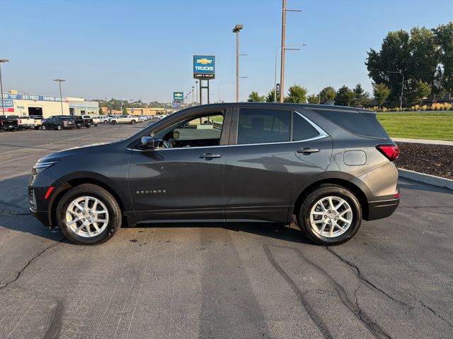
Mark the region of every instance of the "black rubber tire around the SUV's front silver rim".
[[[67, 208], [74, 199], [81, 196], [92, 196], [93, 198], [97, 198], [108, 210], [108, 225], [101, 234], [98, 234], [95, 237], [81, 237], [73, 232], [67, 225]], [[67, 191], [60, 199], [56, 210], [57, 225], [62, 230], [64, 236], [67, 237], [70, 242], [77, 245], [94, 245], [106, 242], [110, 237], [113, 237], [113, 234], [121, 227], [121, 218], [121, 209], [115, 198], [102, 187], [93, 184], [81, 184]]]

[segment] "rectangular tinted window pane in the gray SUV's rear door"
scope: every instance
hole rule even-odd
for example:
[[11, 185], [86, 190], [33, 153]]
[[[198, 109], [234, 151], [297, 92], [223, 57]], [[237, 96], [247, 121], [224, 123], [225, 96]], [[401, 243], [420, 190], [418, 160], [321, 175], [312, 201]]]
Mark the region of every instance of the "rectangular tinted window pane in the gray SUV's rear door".
[[291, 111], [286, 109], [241, 108], [238, 144], [289, 141]]

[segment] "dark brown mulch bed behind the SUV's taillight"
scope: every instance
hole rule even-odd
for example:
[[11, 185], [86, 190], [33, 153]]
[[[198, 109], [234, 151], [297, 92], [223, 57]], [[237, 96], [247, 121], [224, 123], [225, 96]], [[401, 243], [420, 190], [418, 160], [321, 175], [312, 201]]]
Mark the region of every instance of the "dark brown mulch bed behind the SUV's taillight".
[[400, 150], [396, 166], [453, 179], [453, 146], [396, 143]]

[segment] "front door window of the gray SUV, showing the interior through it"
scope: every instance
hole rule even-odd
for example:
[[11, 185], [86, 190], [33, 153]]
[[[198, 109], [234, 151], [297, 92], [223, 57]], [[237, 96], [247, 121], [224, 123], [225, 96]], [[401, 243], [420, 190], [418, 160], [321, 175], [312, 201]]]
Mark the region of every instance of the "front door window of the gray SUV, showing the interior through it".
[[[224, 116], [219, 113], [205, 114], [176, 124], [171, 131], [161, 136], [164, 143], [161, 148], [207, 147], [220, 143]], [[159, 134], [156, 136], [159, 138]]]

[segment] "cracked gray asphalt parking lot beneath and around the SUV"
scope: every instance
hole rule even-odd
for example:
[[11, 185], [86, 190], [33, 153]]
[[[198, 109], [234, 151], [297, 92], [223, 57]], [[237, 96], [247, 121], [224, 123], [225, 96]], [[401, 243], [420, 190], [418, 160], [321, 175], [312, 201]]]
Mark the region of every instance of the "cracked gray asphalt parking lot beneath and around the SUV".
[[69, 244], [28, 212], [38, 158], [145, 123], [0, 132], [0, 338], [452, 338], [453, 194], [401, 181], [350, 242], [294, 227], [123, 228]]

